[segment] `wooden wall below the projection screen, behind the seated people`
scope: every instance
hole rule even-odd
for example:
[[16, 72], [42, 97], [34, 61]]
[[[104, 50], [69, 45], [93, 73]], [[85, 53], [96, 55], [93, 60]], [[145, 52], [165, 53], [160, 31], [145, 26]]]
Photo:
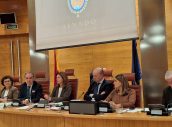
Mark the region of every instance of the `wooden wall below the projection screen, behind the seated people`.
[[[78, 96], [89, 86], [89, 74], [95, 67], [113, 69], [113, 75], [131, 72], [131, 41], [99, 44], [56, 50], [60, 71], [73, 68], [75, 77], [79, 79]], [[50, 77], [53, 77], [54, 57], [49, 52]]]

